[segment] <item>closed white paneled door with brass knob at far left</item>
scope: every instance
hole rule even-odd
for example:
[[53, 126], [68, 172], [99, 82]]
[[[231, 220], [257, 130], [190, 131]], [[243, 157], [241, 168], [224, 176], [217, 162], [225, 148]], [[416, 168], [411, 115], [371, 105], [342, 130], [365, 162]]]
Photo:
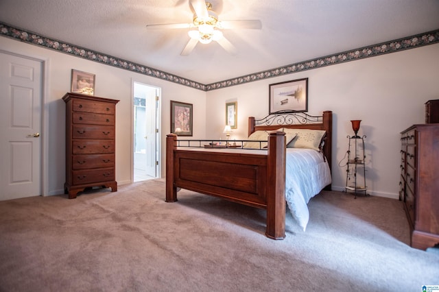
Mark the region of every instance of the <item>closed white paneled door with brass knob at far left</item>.
[[42, 68], [0, 52], [0, 200], [41, 195]]

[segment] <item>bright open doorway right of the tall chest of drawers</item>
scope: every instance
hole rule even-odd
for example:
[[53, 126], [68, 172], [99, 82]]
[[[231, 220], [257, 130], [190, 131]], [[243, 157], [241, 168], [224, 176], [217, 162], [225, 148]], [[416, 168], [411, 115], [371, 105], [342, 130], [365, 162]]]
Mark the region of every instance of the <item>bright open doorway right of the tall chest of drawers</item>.
[[160, 88], [133, 82], [133, 181], [158, 178], [160, 139], [158, 138]]

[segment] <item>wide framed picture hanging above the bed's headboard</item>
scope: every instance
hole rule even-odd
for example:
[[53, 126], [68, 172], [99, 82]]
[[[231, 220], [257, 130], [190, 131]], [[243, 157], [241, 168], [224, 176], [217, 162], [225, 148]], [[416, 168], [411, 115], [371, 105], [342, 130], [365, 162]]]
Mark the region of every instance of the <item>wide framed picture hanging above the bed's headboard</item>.
[[270, 84], [269, 114], [308, 111], [308, 78]]

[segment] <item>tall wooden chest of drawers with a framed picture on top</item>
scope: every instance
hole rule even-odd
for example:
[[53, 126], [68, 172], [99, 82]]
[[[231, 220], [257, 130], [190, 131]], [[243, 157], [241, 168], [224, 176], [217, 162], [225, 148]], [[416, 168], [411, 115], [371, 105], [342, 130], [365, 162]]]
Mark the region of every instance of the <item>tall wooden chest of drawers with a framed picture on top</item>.
[[65, 193], [74, 199], [93, 186], [117, 191], [115, 180], [115, 99], [67, 93]]

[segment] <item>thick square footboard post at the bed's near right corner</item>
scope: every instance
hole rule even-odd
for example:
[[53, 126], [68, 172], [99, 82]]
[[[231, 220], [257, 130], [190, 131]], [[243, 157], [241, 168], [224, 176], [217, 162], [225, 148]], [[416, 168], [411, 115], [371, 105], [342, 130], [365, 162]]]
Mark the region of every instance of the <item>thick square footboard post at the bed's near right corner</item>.
[[270, 239], [285, 238], [285, 132], [268, 136], [267, 230]]

